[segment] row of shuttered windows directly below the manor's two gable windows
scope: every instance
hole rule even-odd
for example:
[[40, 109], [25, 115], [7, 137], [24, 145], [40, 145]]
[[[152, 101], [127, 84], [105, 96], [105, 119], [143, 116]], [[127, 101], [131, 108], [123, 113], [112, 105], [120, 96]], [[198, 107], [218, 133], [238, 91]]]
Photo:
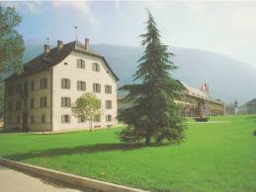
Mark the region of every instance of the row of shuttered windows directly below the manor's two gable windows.
[[[69, 79], [61, 79], [61, 88], [62, 89], [70, 89], [71, 81]], [[47, 79], [43, 78], [41, 79], [41, 89], [47, 89]], [[35, 90], [35, 81], [31, 82], [31, 91]], [[86, 91], [86, 82], [84, 81], [77, 81], [77, 90], [78, 91]], [[24, 91], [28, 92], [28, 82], [24, 84]], [[93, 84], [93, 92], [94, 93], [101, 93], [101, 85], [100, 84]], [[22, 93], [22, 85], [19, 84], [16, 86], [16, 94], [21, 94]], [[7, 90], [8, 96], [13, 95], [13, 88], [8, 87]], [[112, 86], [105, 85], [105, 94], [112, 94]]]

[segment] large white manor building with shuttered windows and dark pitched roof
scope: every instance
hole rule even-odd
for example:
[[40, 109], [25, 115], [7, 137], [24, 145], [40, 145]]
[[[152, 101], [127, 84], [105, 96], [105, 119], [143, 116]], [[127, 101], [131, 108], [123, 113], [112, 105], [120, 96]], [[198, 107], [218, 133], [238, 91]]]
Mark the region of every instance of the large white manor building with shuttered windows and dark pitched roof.
[[24, 73], [5, 81], [5, 128], [30, 131], [89, 129], [72, 114], [71, 103], [85, 92], [102, 102], [93, 127], [118, 124], [117, 75], [106, 59], [84, 43], [72, 41], [50, 49], [25, 64]]

